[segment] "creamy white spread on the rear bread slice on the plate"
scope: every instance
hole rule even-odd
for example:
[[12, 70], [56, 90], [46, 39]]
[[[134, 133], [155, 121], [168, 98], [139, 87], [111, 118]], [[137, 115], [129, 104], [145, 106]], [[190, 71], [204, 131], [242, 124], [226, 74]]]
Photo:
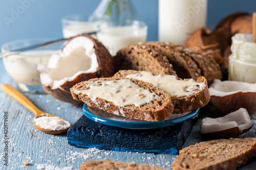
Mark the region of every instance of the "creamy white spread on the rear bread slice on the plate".
[[193, 79], [184, 81], [178, 80], [177, 77], [173, 75], [154, 76], [151, 72], [146, 71], [141, 71], [139, 74], [127, 75], [126, 78], [133, 78], [152, 83], [159, 89], [169, 93], [170, 96], [177, 98], [197, 93], [206, 86], [204, 83], [198, 83]]

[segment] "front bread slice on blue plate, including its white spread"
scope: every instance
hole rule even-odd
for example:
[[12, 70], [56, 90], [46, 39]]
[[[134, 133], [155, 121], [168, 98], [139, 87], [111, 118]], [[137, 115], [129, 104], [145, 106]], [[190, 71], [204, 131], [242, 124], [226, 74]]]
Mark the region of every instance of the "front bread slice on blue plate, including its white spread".
[[173, 113], [168, 93], [141, 80], [96, 78], [76, 84], [73, 99], [106, 112], [135, 119], [159, 121]]

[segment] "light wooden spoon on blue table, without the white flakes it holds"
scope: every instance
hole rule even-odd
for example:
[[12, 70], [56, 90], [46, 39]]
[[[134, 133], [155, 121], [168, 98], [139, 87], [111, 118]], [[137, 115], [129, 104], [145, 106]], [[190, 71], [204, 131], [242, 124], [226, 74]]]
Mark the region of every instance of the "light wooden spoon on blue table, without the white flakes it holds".
[[[35, 114], [35, 118], [37, 117], [41, 117], [41, 116], [52, 116], [52, 117], [58, 117], [58, 116], [54, 116], [52, 114], [48, 114], [46, 112], [43, 112], [41, 110], [39, 110], [28, 98], [26, 98], [25, 95], [23, 95], [21, 92], [19, 92], [16, 88], [14, 88], [12, 85], [10, 84], [2, 84], [1, 85], [2, 89], [9, 94], [10, 96], [12, 96], [13, 99], [15, 99], [16, 101], [18, 101], [20, 104], [22, 104], [23, 106], [25, 106], [27, 109], [29, 109], [31, 112], [33, 112]], [[60, 117], [59, 117], [60, 118]], [[62, 118], [60, 118], [62, 119]], [[62, 119], [64, 120], [64, 119]], [[67, 121], [68, 122], [68, 121]], [[61, 129], [61, 130], [51, 130], [51, 129], [44, 129], [41, 128], [39, 126], [37, 126], [35, 124], [35, 122], [33, 122], [36, 129], [38, 129], [39, 131], [45, 132], [45, 133], [51, 133], [51, 134], [61, 134], [61, 133], [65, 133], [69, 130], [70, 126], [66, 129]]]

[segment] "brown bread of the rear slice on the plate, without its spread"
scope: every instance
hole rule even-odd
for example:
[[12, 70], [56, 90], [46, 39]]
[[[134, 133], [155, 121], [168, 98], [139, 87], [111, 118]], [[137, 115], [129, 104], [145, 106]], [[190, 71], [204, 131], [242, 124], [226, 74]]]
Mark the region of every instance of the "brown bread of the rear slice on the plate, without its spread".
[[[118, 72], [116, 72], [116, 74], [113, 77], [126, 78], [127, 75], [139, 74], [140, 72], [141, 71], [136, 71], [136, 70], [119, 70]], [[183, 79], [178, 78], [178, 80], [183, 80]], [[184, 81], [188, 81], [188, 80], [190, 79], [184, 79]], [[173, 113], [178, 114], [178, 113], [193, 111], [195, 109], [205, 106], [209, 102], [210, 94], [209, 94], [209, 89], [207, 86], [206, 79], [204, 77], [199, 77], [197, 79], [197, 82], [204, 83], [206, 85], [205, 88], [189, 96], [172, 98], [172, 101], [174, 104]], [[172, 87], [170, 86], [170, 88]]]

